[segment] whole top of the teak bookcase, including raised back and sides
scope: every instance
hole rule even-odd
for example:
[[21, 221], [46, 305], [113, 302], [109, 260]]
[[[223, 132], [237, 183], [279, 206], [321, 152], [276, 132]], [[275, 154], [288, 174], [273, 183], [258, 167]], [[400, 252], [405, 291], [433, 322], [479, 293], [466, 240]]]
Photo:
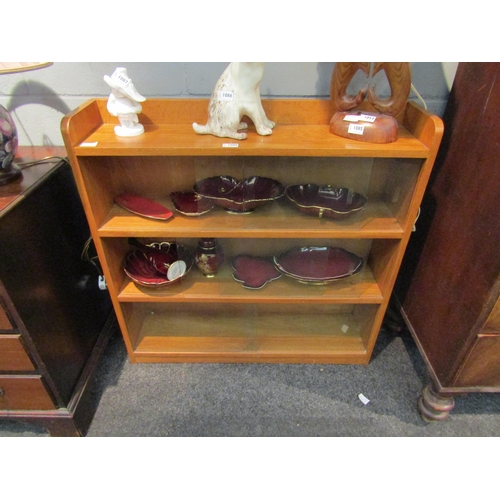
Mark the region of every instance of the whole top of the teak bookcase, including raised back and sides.
[[[77, 156], [331, 156], [331, 157], [428, 157], [425, 128], [433, 129], [431, 115], [413, 103], [407, 106], [407, 123], [400, 126], [394, 143], [373, 144], [345, 139], [329, 131], [331, 103], [324, 99], [263, 100], [267, 115], [276, 122], [270, 136], [260, 136], [249, 122], [248, 137], [199, 135], [192, 123], [206, 123], [207, 99], [148, 99], [139, 116], [145, 133], [117, 137], [117, 119], [106, 110], [106, 99], [87, 101], [64, 118], [63, 129]], [[419, 120], [415, 120], [419, 117]], [[76, 123], [74, 123], [76, 121]], [[73, 122], [73, 123], [72, 123]], [[420, 126], [419, 127], [419, 123]], [[71, 124], [71, 125], [70, 125]], [[409, 129], [408, 129], [409, 128]], [[412, 130], [413, 128], [413, 130]], [[420, 129], [419, 129], [420, 128]], [[421, 137], [422, 131], [424, 136]]]

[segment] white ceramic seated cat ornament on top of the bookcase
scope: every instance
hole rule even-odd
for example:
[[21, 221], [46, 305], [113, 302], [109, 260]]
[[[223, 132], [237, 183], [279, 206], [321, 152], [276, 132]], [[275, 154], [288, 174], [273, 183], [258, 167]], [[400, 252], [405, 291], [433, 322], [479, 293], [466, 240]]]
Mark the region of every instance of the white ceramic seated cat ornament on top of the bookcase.
[[248, 127], [241, 121], [246, 115], [254, 123], [257, 133], [270, 135], [274, 122], [269, 120], [262, 108], [259, 85], [264, 76], [264, 63], [232, 62], [222, 73], [215, 85], [208, 105], [206, 125], [193, 123], [198, 134], [211, 134], [217, 137], [246, 139]]

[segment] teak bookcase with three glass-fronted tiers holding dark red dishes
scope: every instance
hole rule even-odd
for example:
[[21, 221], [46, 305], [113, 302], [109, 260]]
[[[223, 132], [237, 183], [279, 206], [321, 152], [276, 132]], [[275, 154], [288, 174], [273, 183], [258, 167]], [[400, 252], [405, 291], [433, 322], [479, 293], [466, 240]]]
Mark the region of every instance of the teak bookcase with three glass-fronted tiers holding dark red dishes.
[[[440, 118], [408, 103], [399, 139], [370, 144], [329, 132], [329, 100], [264, 100], [273, 134], [250, 124], [244, 141], [197, 135], [208, 100], [148, 99], [138, 137], [115, 136], [106, 99], [63, 119], [62, 133], [131, 362], [367, 364], [388, 305], [443, 133]], [[237, 146], [234, 144], [237, 143]], [[227, 145], [230, 147], [226, 147]], [[349, 187], [365, 209], [333, 221], [299, 212], [284, 197], [250, 215], [222, 208], [201, 217], [174, 211], [168, 221], [133, 215], [114, 203], [123, 192], [173, 210], [169, 194], [215, 175], [272, 177], [283, 185]], [[182, 283], [141, 288], [122, 266], [129, 237], [195, 248], [215, 237], [226, 259], [215, 278], [196, 267]], [[232, 276], [232, 257], [272, 257], [297, 246], [341, 246], [363, 270], [334, 284], [287, 276], [248, 290]]]

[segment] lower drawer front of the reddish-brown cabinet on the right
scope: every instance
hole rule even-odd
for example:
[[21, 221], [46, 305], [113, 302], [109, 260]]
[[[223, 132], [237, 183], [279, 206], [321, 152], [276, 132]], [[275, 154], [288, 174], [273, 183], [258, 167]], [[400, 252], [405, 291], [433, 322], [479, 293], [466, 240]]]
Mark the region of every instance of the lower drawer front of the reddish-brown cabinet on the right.
[[500, 334], [478, 335], [454, 385], [500, 388]]

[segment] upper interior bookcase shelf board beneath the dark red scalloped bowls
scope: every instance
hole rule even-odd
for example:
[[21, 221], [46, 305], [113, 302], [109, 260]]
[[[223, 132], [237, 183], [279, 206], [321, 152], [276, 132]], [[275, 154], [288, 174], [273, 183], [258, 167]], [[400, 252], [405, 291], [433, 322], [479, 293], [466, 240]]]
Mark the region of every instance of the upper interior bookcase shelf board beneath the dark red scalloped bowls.
[[403, 229], [383, 202], [369, 202], [348, 219], [319, 219], [302, 214], [287, 200], [259, 207], [248, 215], [228, 214], [220, 207], [200, 217], [176, 214], [167, 199], [157, 200], [174, 212], [167, 221], [131, 214], [113, 205], [99, 227], [100, 237], [171, 238], [401, 238]]

